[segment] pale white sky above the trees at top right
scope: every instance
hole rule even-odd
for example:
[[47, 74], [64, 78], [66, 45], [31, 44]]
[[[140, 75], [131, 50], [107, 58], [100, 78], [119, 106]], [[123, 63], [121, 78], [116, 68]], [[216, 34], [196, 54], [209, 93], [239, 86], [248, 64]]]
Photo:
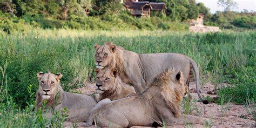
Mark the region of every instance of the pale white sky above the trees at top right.
[[[251, 12], [251, 10], [256, 11], [256, 0], [233, 0], [237, 2], [237, 9], [233, 9], [232, 11], [243, 11], [244, 9]], [[211, 13], [214, 14], [216, 11], [223, 11], [224, 8], [218, 6], [218, 0], [196, 0], [197, 3], [201, 2], [210, 9]]]

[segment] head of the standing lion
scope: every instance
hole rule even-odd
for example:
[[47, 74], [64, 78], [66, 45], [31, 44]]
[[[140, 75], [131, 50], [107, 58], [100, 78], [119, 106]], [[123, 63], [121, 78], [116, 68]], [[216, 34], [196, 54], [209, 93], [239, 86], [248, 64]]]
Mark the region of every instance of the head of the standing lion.
[[94, 48], [96, 68], [103, 69], [104, 67], [107, 67], [113, 69], [116, 64], [118, 65], [119, 63], [122, 63], [122, 58], [118, 55], [123, 48], [117, 48], [117, 46], [111, 42], [106, 42], [102, 46], [95, 44]]

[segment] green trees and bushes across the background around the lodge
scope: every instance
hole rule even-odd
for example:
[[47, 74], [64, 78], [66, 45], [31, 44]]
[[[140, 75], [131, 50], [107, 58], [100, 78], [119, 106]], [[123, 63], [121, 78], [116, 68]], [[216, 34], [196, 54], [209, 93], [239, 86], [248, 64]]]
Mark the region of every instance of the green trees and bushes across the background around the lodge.
[[[161, 12], [152, 12], [150, 19], [132, 17], [130, 12], [124, 11], [124, 6], [120, 4], [119, 0], [16, 0], [7, 3], [0, 2], [0, 5], [10, 6], [9, 11], [1, 8], [0, 14], [4, 14], [1, 17], [8, 17], [8, 19], [4, 19], [0, 27], [8, 33], [14, 30], [23, 31], [23, 26], [28, 25], [27, 23], [30, 26], [44, 29], [187, 30], [177, 29], [172, 23], [190, 21], [190, 19], [196, 19], [198, 13], [203, 13], [205, 25], [220, 26], [221, 29], [255, 29], [255, 14], [247, 10], [241, 13], [216, 12], [212, 15], [203, 3], [196, 3], [195, 0], [150, 0], [150, 2], [164, 2], [167, 7], [166, 15]], [[232, 1], [222, 1], [221, 5], [228, 4], [230, 6], [229, 3]], [[89, 17], [87, 17], [88, 12], [90, 12]], [[158, 19], [159, 22], [154, 22], [155, 19]], [[21, 25], [21, 29], [16, 25]], [[188, 27], [183, 24], [181, 28]]]

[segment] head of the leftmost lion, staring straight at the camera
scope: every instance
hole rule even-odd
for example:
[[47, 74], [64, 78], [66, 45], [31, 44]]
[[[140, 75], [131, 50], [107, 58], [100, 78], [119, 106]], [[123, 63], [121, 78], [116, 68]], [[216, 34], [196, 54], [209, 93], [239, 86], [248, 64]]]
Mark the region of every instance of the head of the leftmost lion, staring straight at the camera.
[[55, 96], [57, 90], [60, 87], [60, 78], [62, 78], [61, 73], [57, 73], [56, 75], [52, 74], [49, 70], [48, 73], [38, 72], [37, 78], [39, 80], [39, 95], [42, 96], [42, 99], [49, 100], [53, 96]]

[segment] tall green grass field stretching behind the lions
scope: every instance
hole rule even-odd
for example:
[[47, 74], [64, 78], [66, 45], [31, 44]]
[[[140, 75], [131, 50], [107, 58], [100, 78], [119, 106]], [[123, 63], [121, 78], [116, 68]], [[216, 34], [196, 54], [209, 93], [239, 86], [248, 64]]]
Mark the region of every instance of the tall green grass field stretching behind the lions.
[[[242, 95], [241, 97], [246, 95], [245, 97], [249, 97], [255, 103], [255, 38], [255, 31], [190, 33], [72, 30], [69, 32], [38, 29], [14, 35], [0, 32], [2, 69], [0, 80], [2, 86], [8, 83], [7, 94], [12, 97], [12, 103], [16, 105], [12, 109], [21, 107], [24, 110], [28, 106], [26, 102], [31, 99], [27, 91], [28, 85], [31, 86], [31, 92], [36, 92], [38, 88], [37, 72], [45, 72], [47, 69], [53, 73], [62, 72], [62, 86], [65, 91], [84, 86], [85, 83], [94, 80], [93, 45], [111, 41], [137, 53], [183, 53], [197, 62], [201, 84], [207, 81], [216, 85], [228, 83], [233, 87], [239, 84], [244, 87], [239, 86], [242, 91], [252, 90], [239, 95]], [[250, 76], [242, 77], [245, 75]], [[247, 78], [250, 78], [249, 82], [246, 82]], [[2, 89], [1, 92], [3, 91]], [[219, 93], [230, 93], [230, 91], [219, 91]], [[235, 95], [225, 96], [237, 99]], [[1, 105], [9, 102], [5, 97], [1, 95]], [[35, 97], [32, 97], [33, 99]], [[245, 102], [246, 99], [242, 99], [241, 102]], [[231, 101], [240, 103], [237, 100]]]

